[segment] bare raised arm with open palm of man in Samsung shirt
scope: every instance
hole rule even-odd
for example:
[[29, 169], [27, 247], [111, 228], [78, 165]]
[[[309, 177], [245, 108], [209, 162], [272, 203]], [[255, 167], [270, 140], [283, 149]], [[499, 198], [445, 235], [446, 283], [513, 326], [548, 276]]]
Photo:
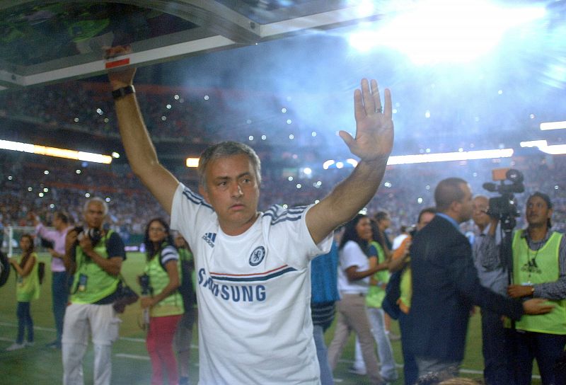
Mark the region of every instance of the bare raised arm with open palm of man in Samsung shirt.
[[391, 149], [393, 149], [393, 120], [391, 93], [384, 93], [383, 113], [379, 88], [362, 79], [362, 90], [354, 91], [356, 135], [345, 131], [340, 137], [360, 161], [348, 178], [338, 183], [327, 197], [306, 214], [306, 226], [315, 243], [319, 243], [338, 225], [352, 219], [375, 195]]

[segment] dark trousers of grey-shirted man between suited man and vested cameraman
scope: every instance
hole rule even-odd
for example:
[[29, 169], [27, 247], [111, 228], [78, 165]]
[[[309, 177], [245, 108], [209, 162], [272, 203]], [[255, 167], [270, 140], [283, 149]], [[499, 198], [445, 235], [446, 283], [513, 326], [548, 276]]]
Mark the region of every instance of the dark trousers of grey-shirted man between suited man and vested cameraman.
[[482, 309], [483, 378], [487, 385], [507, 385], [507, 354], [505, 352], [505, 328], [501, 316]]

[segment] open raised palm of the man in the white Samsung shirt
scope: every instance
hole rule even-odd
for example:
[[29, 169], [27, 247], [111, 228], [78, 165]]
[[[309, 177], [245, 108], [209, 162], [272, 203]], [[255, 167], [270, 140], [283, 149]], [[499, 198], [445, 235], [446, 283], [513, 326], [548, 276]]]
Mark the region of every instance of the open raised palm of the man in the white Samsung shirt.
[[354, 91], [354, 117], [356, 136], [340, 131], [340, 137], [352, 154], [362, 161], [383, 159], [393, 149], [393, 120], [391, 118], [391, 92], [386, 89], [384, 105], [381, 105], [377, 81], [362, 79], [362, 91]]

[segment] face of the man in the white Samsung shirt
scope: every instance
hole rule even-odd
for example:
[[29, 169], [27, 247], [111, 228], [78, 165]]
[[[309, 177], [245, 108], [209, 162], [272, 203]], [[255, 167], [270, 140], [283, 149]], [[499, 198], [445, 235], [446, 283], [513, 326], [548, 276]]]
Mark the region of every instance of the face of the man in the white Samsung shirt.
[[225, 156], [210, 161], [206, 173], [204, 199], [212, 205], [226, 234], [246, 231], [258, 212], [260, 188], [255, 169], [246, 154]]

